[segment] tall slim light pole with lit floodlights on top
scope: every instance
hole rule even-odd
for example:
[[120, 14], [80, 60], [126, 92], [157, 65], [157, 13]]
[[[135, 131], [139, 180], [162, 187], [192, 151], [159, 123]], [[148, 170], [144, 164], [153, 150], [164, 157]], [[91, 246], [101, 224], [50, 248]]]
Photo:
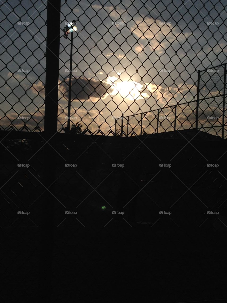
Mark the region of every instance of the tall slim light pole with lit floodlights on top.
[[71, 86], [72, 86], [72, 62], [73, 62], [73, 32], [77, 31], [76, 20], [68, 23], [67, 27], [64, 28], [64, 38], [68, 38], [71, 33], [71, 49], [70, 49], [70, 70], [69, 70], [69, 98], [68, 98], [68, 121], [67, 121], [67, 132], [70, 131], [70, 117], [71, 117]]

